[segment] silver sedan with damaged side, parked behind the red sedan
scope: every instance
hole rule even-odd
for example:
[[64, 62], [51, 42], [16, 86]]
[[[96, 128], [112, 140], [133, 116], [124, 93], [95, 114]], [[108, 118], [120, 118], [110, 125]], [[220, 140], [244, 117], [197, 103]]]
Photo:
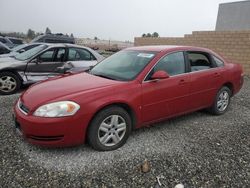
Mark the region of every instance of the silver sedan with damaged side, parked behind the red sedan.
[[94, 50], [73, 44], [43, 44], [14, 58], [0, 58], [0, 94], [13, 94], [22, 85], [94, 66], [104, 57]]

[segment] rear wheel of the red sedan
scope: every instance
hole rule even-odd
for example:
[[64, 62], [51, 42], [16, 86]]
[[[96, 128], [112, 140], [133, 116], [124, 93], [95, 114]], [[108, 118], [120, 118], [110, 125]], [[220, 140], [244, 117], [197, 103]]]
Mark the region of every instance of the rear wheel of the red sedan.
[[214, 104], [209, 111], [214, 115], [224, 114], [229, 107], [231, 96], [232, 91], [228, 87], [223, 86], [216, 94]]

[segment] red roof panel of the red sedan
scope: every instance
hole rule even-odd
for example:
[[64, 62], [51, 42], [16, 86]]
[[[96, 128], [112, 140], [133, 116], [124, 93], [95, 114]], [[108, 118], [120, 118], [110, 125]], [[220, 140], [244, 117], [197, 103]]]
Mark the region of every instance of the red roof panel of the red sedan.
[[212, 52], [209, 49], [195, 47], [195, 46], [174, 46], [174, 45], [152, 45], [152, 46], [136, 46], [131, 48], [126, 48], [125, 50], [138, 50], [138, 51], [151, 51], [151, 52], [162, 52], [162, 51], [177, 51], [177, 50], [194, 50], [194, 51], [204, 51]]

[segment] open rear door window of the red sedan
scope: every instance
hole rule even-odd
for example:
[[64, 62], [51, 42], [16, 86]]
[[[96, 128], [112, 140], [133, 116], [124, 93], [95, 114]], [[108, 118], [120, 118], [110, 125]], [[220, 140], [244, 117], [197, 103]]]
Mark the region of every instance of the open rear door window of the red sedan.
[[201, 52], [188, 52], [191, 72], [206, 70], [213, 67], [209, 55]]

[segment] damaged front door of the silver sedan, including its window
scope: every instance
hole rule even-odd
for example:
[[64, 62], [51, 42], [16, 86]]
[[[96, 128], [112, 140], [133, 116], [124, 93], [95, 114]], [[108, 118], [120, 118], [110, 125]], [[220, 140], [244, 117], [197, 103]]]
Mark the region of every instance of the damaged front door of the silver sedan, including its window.
[[65, 63], [65, 48], [50, 48], [27, 64], [25, 74], [29, 81], [44, 80], [59, 74]]

